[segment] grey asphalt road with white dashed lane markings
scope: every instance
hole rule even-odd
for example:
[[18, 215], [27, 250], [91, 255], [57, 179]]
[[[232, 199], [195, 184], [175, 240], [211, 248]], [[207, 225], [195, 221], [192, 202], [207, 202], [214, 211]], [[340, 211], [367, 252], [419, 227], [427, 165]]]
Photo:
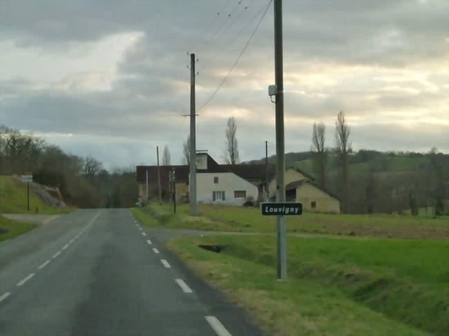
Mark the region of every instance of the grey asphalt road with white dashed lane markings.
[[125, 209], [0, 244], [0, 335], [262, 335]]

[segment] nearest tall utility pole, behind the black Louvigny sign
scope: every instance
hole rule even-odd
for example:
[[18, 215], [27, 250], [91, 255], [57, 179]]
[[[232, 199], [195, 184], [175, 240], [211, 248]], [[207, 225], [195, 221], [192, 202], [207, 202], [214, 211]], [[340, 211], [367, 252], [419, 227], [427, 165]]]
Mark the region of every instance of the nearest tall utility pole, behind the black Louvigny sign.
[[[274, 76], [276, 77], [276, 201], [285, 202], [284, 70], [282, 0], [274, 0]], [[277, 217], [278, 279], [287, 278], [285, 217]]]

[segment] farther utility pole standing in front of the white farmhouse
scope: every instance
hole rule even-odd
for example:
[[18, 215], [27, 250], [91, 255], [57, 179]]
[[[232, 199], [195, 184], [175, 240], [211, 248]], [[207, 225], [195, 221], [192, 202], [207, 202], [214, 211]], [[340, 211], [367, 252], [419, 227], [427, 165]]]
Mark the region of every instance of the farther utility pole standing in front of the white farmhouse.
[[195, 54], [190, 54], [190, 215], [196, 216]]

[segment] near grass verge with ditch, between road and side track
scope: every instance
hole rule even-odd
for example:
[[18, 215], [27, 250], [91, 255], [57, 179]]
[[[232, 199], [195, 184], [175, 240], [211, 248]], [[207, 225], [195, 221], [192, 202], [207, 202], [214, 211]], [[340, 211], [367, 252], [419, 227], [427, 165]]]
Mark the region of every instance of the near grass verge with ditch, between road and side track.
[[189, 237], [167, 246], [274, 335], [449, 334], [446, 241], [289, 237], [286, 281], [276, 281], [276, 237]]

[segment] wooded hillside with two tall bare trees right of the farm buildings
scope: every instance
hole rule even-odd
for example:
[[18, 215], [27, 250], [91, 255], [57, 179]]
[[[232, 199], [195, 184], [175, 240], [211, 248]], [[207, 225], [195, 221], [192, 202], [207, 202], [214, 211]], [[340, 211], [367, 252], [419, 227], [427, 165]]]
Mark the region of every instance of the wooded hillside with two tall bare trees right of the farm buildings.
[[[335, 122], [335, 147], [325, 144], [325, 124], [314, 123], [311, 158], [317, 183], [341, 200], [343, 213], [399, 213], [449, 215], [449, 155], [437, 148], [428, 153], [352, 151], [350, 126], [339, 112]], [[421, 157], [417, 169], [404, 166], [388, 172], [389, 157]], [[365, 163], [355, 169], [357, 163]]]

